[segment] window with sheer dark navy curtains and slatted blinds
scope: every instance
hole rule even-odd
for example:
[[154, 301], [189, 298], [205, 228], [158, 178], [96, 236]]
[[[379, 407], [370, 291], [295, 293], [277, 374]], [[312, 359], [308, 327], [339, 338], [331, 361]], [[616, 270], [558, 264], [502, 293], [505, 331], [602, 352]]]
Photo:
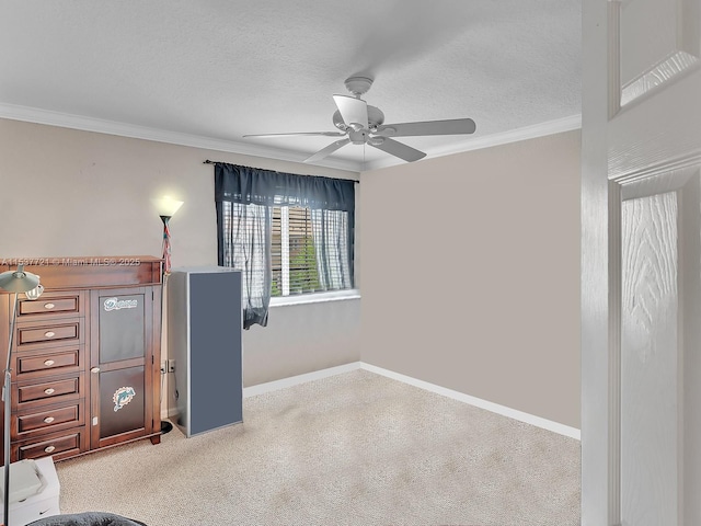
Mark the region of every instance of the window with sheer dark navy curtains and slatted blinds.
[[215, 163], [219, 264], [243, 274], [244, 328], [271, 296], [353, 288], [353, 181]]

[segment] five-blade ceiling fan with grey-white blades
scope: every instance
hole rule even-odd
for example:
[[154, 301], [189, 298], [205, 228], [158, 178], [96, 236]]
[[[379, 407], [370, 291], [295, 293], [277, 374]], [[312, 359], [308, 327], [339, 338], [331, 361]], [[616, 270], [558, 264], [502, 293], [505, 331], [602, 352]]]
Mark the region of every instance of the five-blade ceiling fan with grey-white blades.
[[344, 137], [322, 148], [317, 153], [304, 159], [303, 162], [314, 162], [333, 153], [348, 144], [369, 145], [404, 161], [417, 161], [426, 153], [394, 140], [392, 137], [410, 137], [420, 135], [461, 135], [475, 130], [471, 118], [455, 118], [449, 121], [424, 121], [418, 123], [384, 124], [384, 114], [369, 105], [360, 95], [372, 85], [372, 79], [367, 77], [350, 77], [345, 85], [354, 96], [333, 95], [336, 112], [333, 124], [341, 132], [300, 132], [292, 134], [258, 134], [243, 137], [291, 137], [291, 136], [323, 136]]

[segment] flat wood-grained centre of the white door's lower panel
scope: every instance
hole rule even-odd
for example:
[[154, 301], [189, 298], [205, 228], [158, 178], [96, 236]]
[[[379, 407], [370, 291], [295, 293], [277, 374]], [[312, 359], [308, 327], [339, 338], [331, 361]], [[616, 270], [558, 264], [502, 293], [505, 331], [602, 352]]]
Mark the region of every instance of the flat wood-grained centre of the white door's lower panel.
[[622, 204], [622, 524], [677, 524], [677, 193]]

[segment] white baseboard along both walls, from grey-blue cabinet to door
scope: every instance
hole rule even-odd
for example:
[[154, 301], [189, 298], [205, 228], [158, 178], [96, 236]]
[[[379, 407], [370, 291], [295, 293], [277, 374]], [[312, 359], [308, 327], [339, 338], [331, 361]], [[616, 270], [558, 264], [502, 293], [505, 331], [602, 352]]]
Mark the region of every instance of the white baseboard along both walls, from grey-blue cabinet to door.
[[343, 373], [349, 373], [357, 369], [369, 370], [370, 373], [386, 376], [387, 378], [399, 380], [404, 384], [409, 384], [410, 386], [418, 387], [421, 389], [425, 389], [426, 391], [435, 392], [436, 395], [441, 395], [444, 397], [448, 397], [463, 403], [469, 403], [470, 405], [474, 405], [475, 408], [485, 409], [493, 413], [501, 414], [502, 416], [508, 416], [509, 419], [518, 420], [519, 422], [525, 422], [527, 424], [535, 425], [536, 427], [541, 427], [543, 430], [558, 433], [559, 435], [568, 436], [570, 438], [575, 438], [577, 441], [582, 439], [582, 433], [576, 427], [571, 427], [568, 425], [561, 424], [560, 422], [553, 422], [552, 420], [542, 419], [540, 416], [536, 416], [535, 414], [525, 413], [516, 409], [507, 408], [506, 405], [499, 405], [498, 403], [482, 400], [481, 398], [471, 397], [470, 395], [466, 395], [463, 392], [453, 391], [452, 389], [436, 386], [435, 384], [418, 380], [416, 378], [412, 378], [411, 376], [401, 375], [399, 373], [394, 373], [393, 370], [383, 369], [382, 367], [366, 364], [365, 362], [354, 362], [352, 364], [338, 365], [336, 367], [329, 367], [327, 369], [314, 370], [312, 373], [307, 373], [303, 375], [283, 378], [281, 380], [268, 381], [266, 384], [258, 384], [257, 386], [245, 387], [243, 388], [243, 398], [254, 397], [256, 395], [263, 395], [265, 392], [276, 391], [278, 389], [285, 389], [287, 387], [298, 386], [307, 381], [320, 380], [322, 378], [329, 378], [330, 376], [341, 375]]

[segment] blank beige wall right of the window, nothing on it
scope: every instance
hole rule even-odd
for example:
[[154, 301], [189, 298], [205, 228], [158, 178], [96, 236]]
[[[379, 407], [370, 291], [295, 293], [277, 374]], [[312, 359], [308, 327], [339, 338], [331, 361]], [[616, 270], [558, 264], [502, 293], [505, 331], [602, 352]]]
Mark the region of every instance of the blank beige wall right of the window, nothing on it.
[[579, 427], [579, 132], [361, 174], [363, 362]]

